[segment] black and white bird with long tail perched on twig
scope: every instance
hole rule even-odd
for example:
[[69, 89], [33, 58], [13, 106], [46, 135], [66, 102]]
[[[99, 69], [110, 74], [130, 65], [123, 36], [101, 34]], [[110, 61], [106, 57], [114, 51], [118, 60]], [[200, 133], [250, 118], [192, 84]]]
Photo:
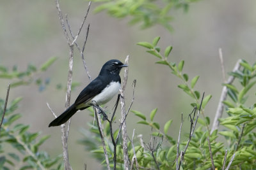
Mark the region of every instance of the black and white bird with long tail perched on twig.
[[[64, 124], [78, 110], [84, 110], [90, 106], [99, 106], [100, 104], [105, 104], [110, 101], [118, 94], [121, 87], [119, 73], [122, 67], [127, 67], [127, 65], [120, 62], [120, 60], [114, 59], [106, 62], [102, 66], [99, 76], [82, 90], [75, 103], [53, 120], [49, 124], [49, 127]], [[102, 111], [102, 113], [106, 119], [104, 111]]]

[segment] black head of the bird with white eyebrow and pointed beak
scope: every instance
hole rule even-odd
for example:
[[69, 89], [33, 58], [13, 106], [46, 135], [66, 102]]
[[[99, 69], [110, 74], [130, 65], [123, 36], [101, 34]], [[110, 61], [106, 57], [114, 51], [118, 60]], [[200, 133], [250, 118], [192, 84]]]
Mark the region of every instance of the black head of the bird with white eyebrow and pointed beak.
[[109, 60], [106, 62], [102, 69], [100, 70], [100, 74], [110, 73], [110, 74], [119, 74], [122, 67], [128, 67], [127, 65], [120, 62], [120, 60]]

